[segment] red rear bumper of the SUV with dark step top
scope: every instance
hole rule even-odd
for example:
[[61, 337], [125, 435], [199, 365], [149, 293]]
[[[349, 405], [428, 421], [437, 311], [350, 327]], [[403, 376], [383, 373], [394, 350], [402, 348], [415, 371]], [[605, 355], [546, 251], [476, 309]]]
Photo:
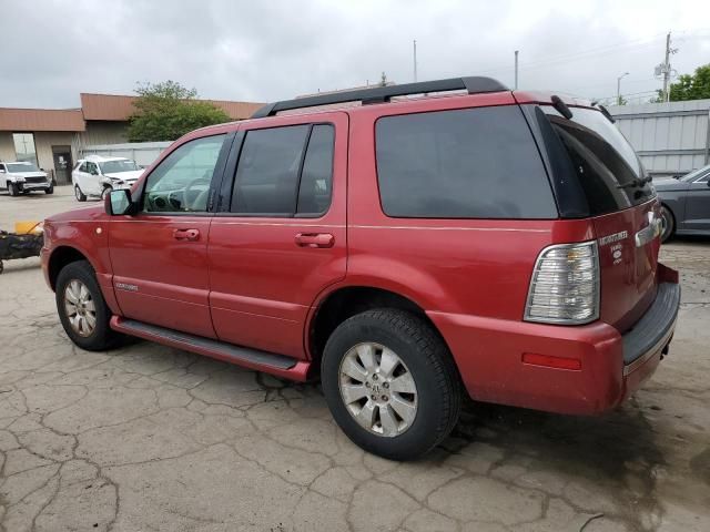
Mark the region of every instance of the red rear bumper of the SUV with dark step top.
[[[663, 277], [659, 278], [653, 304], [625, 335], [601, 321], [566, 327], [427, 314], [452, 349], [473, 399], [559, 413], [596, 415], [615, 408], [636, 391], [667, 352], [676, 327], [680, 287], [673, 270], [659, 265], [659, 272]], [[571, 359], [579, 369], [527, 364], [524, 355]]]

